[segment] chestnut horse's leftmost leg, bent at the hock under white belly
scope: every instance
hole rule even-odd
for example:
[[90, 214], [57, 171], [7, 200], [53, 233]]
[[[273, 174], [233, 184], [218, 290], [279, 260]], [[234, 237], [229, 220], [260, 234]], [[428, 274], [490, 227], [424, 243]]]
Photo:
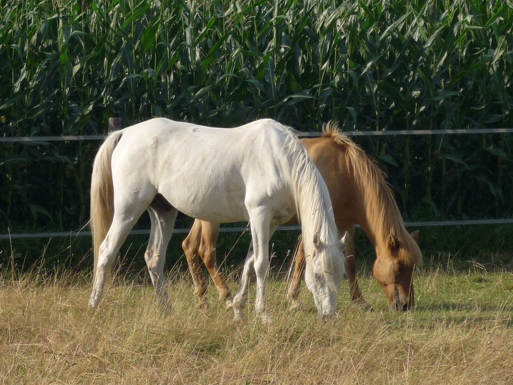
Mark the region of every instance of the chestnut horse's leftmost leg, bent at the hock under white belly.
[[189, 265], [189, 271], [192, 275], [194, 294], [198, 297], [199, 305], [204, 306], [207, 304], [207, 283], [205, 282], [205, 277], [203, 277], [203, 274], [201, 273], [200, 260], [198, 259], [202, 238], [201, 232], [202, 222], [199, 219], [196, 219], [192, 224], [189, 235], [182, 242], [182, 248], [184, 249], [187, 264]]

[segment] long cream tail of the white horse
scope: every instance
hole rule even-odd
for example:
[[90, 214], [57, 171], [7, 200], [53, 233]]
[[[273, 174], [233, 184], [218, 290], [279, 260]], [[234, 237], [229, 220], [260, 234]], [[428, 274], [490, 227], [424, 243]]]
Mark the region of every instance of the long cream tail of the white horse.
[[94, 275], [100, 245], [107, 236], [107, 232], [114, 217], [114, 187], [112, 183], [111, 158], [114, 148], [123, 135], [116, 131], [107, 137], [102, 144], [93, 163], [91, 177], [91, 233], [93, 236]]

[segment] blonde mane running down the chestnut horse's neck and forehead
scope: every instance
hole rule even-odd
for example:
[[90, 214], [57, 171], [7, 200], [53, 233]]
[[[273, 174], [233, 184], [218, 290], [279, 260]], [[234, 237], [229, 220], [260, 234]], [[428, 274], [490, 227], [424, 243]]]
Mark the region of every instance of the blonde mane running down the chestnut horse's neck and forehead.
[[400, 253], [399, 258], [408, 265], [420, 266], [422, 253], [417, 242], [404, 227], [396, 198], [383, 171], [356, 143], [340, 132], [336, 123], [330, 122], [324, 125], [323, 138], [331, 138], [345, 148], [346, 165], [356, 176], [354, 179], [363, 194], [368, 218], [373, 219], [369, 226], [374, 234], [384, 237], [384, 241], [387, 241], [390, 235], [397, 238], [402, 247], [409, 251], [409, 253]]

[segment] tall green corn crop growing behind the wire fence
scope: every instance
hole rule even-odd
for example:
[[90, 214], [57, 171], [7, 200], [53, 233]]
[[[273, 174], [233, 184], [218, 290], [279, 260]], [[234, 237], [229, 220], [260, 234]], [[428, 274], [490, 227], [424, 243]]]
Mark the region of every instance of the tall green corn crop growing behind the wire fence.
[[[494, 0], [5, 0], [0, 229], [86, 223], [94, 141], [163, 116], [300, 130], [513, 127], [513, 8]], [[406, 219], [511, 217], [511, 134], [356, 141]]]

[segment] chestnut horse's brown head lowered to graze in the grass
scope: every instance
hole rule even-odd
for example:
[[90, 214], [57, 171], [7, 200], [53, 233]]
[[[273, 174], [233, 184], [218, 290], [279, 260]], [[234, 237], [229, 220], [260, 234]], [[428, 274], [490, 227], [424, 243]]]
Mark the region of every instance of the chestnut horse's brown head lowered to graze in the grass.
[[391, 234], [376, 247], [374, 278], [381, 285], [391, 311], [406, 311], [415, 305], [413, 271], [422, 263], [418, 239], [418, 231], [406, 233], [402, 239]]

